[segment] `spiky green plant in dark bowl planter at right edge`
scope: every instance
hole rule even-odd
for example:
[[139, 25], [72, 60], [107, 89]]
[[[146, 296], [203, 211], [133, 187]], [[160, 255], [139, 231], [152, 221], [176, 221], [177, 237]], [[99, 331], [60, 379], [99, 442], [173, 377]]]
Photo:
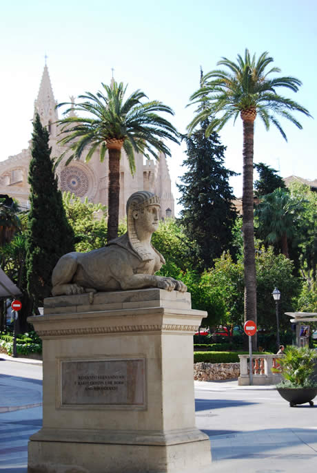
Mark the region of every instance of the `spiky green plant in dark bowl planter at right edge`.
[[272, 368], [273, 372], [280, 372], [283, 381], [276, 385], [280, 395], [289, 401], [289, 406], [309, 402], [314, 406], [312, 399], [317, 395], [317, 383], [312, 375], [317, 358], [316, 350], [308, 347], [297, 348], [289, 346], [283, 358], [278, 359], [279, 368]]

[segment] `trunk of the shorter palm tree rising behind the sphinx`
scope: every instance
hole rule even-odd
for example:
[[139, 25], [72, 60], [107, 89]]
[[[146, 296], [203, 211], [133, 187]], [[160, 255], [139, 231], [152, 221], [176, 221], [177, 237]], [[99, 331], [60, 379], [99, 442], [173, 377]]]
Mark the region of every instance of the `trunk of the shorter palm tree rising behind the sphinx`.
[[121, 149], [109, 150], [109, 190], [108, 190], [108, 235], [107, 241], [118, 236], [119, 196], [120, 196], [120, 157]]

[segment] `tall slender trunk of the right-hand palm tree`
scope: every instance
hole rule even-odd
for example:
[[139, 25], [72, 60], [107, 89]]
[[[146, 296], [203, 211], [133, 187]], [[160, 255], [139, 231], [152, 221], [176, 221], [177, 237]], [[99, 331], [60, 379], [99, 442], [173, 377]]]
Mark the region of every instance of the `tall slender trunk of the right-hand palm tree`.
[[[255, 117], [254, 117], [255, 118]], [[243, 120], [243, 249], [245, 276], [245, 321], [257, 322], [256, 316], [256, 261], [254, 248], [253, 195], [254, 119]], [[252, 337], [256, 348], [256, 335]]]

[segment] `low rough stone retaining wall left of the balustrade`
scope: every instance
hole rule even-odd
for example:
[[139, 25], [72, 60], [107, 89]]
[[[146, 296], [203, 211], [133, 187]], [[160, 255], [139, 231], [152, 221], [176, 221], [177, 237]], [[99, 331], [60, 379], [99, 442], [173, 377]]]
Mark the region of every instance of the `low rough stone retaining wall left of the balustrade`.
[[240, 363], [194, 363], [196, 381], [233, 379], [240, 376]]

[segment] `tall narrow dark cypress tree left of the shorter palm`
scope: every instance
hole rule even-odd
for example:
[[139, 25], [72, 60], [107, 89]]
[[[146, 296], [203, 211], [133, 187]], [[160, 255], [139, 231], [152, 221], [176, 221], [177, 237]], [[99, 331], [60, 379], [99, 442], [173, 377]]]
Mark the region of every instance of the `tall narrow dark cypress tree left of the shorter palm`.
[[48, 140], [48, 131], [42, 127], [37, 114], [33, 123], [28, 176], [30, 213], [26, 248], [28, 293], [35, 308], [43, 305], [45, 297], [50, 297], [55, 264], [62, 255], [74, 249], [74, 233], [65, 216]]

